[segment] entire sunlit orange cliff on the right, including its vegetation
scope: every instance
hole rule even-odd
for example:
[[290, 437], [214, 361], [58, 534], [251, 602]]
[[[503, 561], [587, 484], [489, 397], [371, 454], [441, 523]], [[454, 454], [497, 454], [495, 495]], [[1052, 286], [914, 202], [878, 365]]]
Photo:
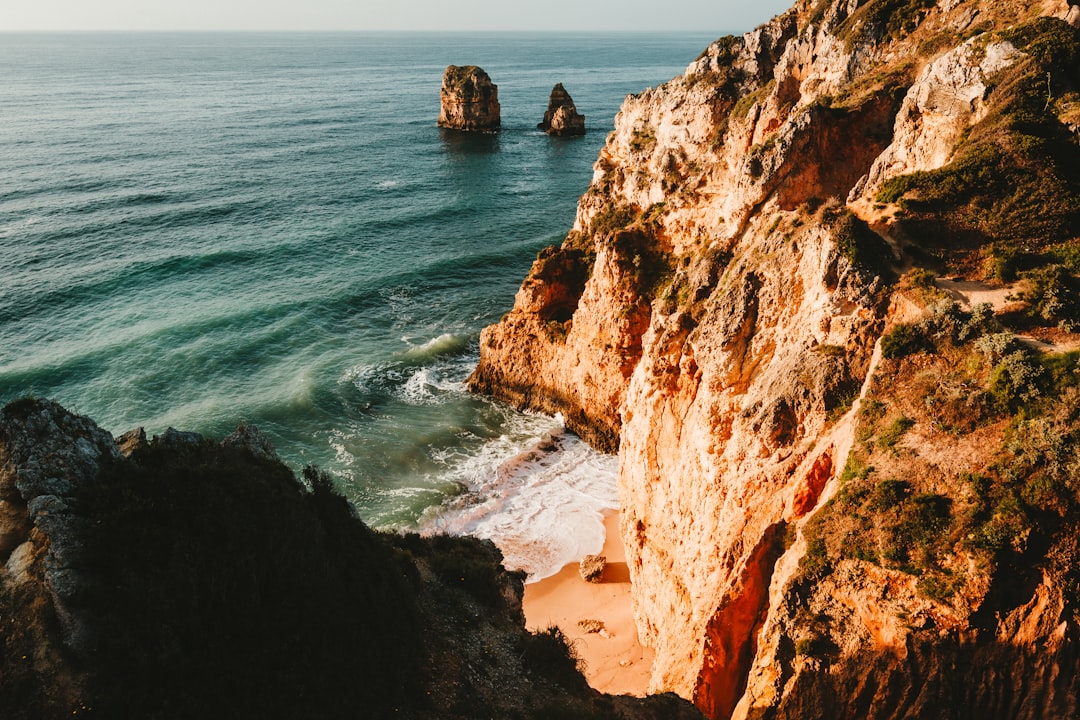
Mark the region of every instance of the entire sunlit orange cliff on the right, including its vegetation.
[[472, 385], [618, 449], [654, 690], [1075, 717], [1077, 15], [802, 0], [626, 98]]

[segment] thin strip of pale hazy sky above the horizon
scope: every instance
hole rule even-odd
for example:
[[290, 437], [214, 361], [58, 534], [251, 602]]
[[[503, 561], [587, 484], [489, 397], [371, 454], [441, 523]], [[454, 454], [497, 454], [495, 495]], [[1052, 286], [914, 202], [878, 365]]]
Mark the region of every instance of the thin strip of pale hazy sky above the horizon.
[[738, 32], [794, 0], [0, 0], [5, 30]]

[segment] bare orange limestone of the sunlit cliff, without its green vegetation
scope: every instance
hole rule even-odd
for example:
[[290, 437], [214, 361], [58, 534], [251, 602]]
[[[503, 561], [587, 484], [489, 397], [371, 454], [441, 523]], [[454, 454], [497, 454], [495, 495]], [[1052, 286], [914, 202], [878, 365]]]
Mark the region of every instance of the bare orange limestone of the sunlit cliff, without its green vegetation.
[[[1004, 168], [1023, 155], [1061, 196], [1080, 190], [1075, 175], [1034, 171], [1077, 148], [1068, 98], [1080, 78], [1067, 69], [1076, 37], [1039, 19], [1069, 13], [1064, 2], [804, 1], [626, 98], [572, 230], [541, 253], [513, 310], [482, 335], [472, 383], [562, 412], [594, 444], [618, 447], [638, 630], [657, 650], [653, 689], [713, 718], [842, 707], [846, 717], [926, 717], [934, 703], [1011, 717], [1014, 707], [1075, 704], [1076, 688], [1059, 678], [1078, 669], [1076, 598], [1059, 572], [1023, 597], [985, 600], [1009, 570], [957, 540], [946, 569], [985, 562], [963, 582], [948, 574], [948, 600], [928, 598], [929, 581], [916, 592], [919, 568], [885, 555], [848, 559], [835, 535], [828, 573], [800, 565], [807, 524], [829, 516], [822, 511], [847, 481], [856, 435], [868, 432], [860, 398], [897, 370], [880, 364], [878, 339], [933, 304], [897, 276], [913, 263], [931, 276], [977, 274], [1020, 236], [995, 229], [1017, 225], [1001, 219], [1015, 198], [956, 176], [977, 177], [978, 159]], [[1058, 42], [1059, 54], [1043, 54]], [[1050, 99], [1017, 90], [1036, 78], [1044, 89], [1048, 73]], [[1031, 136], [1011, 120], [1022, 103], [1056, 150], [1028, 153]], [[959, 198], [959, 187], [976, 190]], [[1055, 216], [1062, 236], [1078, 217], [1068, 202]], [[928, 218], [963, 242], [923, 243], [916, 220]], [[913, 408], [904, 423], [918, 418]], [[935, 440], [953, 457], [934, 475], [941, 487], [913, 485], [912, 498], [951, 497], [943, 488], [991, 462], [950, 437]], [[986, 447], [1001, 447], [995, 437]], [[948, 506], [958, 517], [959, 505]], [[926, 578], [946, 572], [934, 568]], [[1001, 644], [1036, 606], [1023, 639]], [[815, 616], [828, 619], [827, 633], [809, 631]], [[828, 650], [797, 653], [800, 640], [802, 651]], [[1032, 650], [1040, 643], [1045, 655]], [[984, 658], [997, 669], [980, 677], [1024, 690], [970, 704], [980, 691], [949, 685], [947, 668]], [[1003, 669], [1017, 663], [1024, 669]]]

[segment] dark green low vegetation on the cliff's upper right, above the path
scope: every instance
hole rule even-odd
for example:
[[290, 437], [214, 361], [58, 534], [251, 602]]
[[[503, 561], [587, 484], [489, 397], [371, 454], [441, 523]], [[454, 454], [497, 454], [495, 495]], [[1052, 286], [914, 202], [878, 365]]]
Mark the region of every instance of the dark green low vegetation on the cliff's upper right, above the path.
[[1080, 100], [1080, 30], [1041, 17], [996, 37], [1027, 57], [993, 79], [986, 118], [950, 163], [893, 177], [877, 195], [947, 258], [990, 243], [1030, 256], [1080, 235], [1080, 144], [1062, 122]]

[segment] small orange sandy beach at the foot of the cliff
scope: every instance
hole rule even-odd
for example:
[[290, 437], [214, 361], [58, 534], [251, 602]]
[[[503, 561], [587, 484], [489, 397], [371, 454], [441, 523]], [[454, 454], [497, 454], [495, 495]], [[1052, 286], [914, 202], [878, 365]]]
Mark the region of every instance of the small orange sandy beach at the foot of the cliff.
[[[603, 582], [586, 583], [578, 563], [525, 586], [525, 622], [530, 630], [557, 625], [570, 638], [593, 688], [612, 694], [644, 696], [648, 691], [652, 651], [637, 641], [630, 597], [630, 571], [619, 535], [619, 513], [604, 518]], [[588, 631], [579, 623], [590, 623]], [[602, 627], [599, 631], [595, 631]]]

